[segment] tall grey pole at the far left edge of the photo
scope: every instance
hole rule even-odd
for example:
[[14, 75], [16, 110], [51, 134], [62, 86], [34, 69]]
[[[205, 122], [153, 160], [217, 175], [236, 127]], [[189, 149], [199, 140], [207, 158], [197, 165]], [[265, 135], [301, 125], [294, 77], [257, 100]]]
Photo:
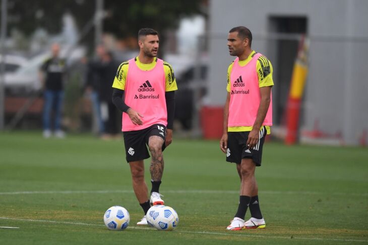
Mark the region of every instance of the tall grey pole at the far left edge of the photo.
[[1, 20], [1, 54], [2, 60], [0, 64], [0, 130], [4, 130], [5, 113], [4, 113], [4, 84], [5, 84], [5, 39], [7, 35], [7, 0], [2, 0], [2, 20]]

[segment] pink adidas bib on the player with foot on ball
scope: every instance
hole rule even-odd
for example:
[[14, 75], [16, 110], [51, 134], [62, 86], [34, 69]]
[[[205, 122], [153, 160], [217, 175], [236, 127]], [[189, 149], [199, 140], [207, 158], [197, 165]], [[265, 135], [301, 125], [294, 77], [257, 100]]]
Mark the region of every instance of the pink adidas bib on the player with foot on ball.
[[139, 114], [143, 125], [134, 125], [127, 113], [122, 113], [121, 131], [141, 130], [153, 124], [167, 126], [165, 72], [162, 59], [152, 70], [141, 70], [135, 59], [129, 60], [125, 87], [125, 103]]

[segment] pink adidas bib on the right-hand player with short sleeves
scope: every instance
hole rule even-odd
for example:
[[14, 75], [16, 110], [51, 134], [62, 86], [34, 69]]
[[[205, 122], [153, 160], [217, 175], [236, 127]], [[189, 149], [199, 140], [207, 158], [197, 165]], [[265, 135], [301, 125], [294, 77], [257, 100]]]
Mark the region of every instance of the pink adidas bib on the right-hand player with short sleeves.
[[[239, 58], [234, 60], [230, 74], [229, 127], [253, 126], [261, 102], [258, 82], [257, 53], [245, 66], [239, 65]], [[272, 95], [266, 118], [262, 125], [272, 125]]]

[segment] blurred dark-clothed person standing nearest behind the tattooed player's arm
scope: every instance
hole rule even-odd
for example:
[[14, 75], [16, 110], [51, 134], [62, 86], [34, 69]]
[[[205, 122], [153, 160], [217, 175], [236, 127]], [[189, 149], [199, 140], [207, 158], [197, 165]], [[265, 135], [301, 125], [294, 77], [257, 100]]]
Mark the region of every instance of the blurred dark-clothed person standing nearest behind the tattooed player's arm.
[[104, 124], [104, 131], [102, 132], [101, 138], [110, 139], [112, 137], [120, 137], [121, 124], [119, 123], [119, 118], [121, 118], [121, 112], [117, 111], [111, 101], [112, 82], [115, 77], [117, 64], [114, 62], [111, 52], [104, 52], [101, 58], [101, 67], [99, 69], [99, 98], [101, 118]]

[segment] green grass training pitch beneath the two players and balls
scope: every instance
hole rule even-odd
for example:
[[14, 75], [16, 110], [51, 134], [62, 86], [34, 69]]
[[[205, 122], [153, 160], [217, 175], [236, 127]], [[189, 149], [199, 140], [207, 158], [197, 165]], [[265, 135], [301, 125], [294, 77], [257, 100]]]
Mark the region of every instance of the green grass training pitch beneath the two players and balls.
[[[239, 180], [218, 145], [175, 139], [165, 150], [160, 192], [179, 225], [164, 232], [136, 225], [122, 141], [0, 133], [0, 226], [19, 227], [0, 228], [0, 244], [368, 244], [367, 148], [266, 143], [256, 176], [267, 227], [226, 231]], [[105, 228], [113, 205], [130, 212], [127, 230]]]

